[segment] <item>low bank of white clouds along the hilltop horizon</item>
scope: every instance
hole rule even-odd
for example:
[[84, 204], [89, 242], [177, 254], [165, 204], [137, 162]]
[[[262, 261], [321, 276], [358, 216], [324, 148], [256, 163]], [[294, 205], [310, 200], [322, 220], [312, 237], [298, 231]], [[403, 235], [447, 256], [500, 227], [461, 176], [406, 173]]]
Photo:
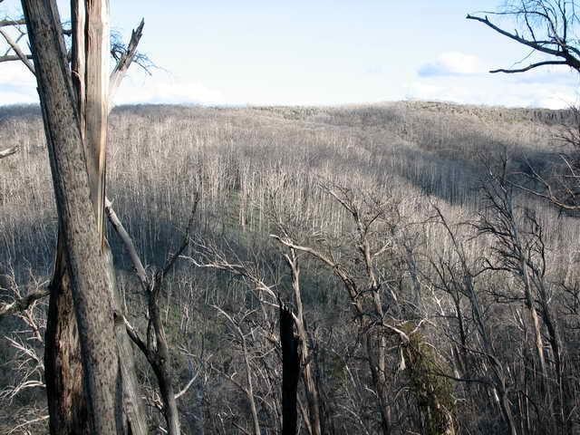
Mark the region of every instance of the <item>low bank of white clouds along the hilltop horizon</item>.
[[[431, 65], [431, 73], [414, 74], [407, 86], [391, 92], [390, 98], [551, 109], [565, 108], [570, 103], [580, 101], [577, 91], [580, 80], [567, 69], [538, 69], [521, 74], [480, 73], [485, 72], [486, 68], [482, 67], [477, 56], [457, 52], [442, 53]], [[38, 102], [35, 88], [34, 76], [22, 63], [0, 64], [0, 105]], [[350, 93], [345, 99], [356, 102], [360, 92], [357, 84], [353, 83], [347, 89]], [[295, 91], [296, 95], [300, 93], [298, 91], [307, 94], [308, 88], [296, 88]], [[222, 92], [196, 80], [159, 70], [149, 76], [135, 68], [121, 83], [114, 102], [217, 105], [244, 103], [241, 101], [244, 98], [243, 92], [231, 92], [235, 91]], [[265, 102], [275, 102], [266, 100], [270, 94], [271, 92], [265, 92]], [[383, 94], [382, 98], [384, 97]]]

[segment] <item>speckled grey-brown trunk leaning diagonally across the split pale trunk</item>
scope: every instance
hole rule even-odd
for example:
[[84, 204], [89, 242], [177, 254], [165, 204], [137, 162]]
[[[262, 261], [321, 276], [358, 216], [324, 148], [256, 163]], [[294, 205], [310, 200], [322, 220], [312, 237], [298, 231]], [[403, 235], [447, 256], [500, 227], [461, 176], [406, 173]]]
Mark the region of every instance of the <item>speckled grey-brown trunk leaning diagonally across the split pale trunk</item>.
[[118, 360], [111, 278], [102, 256], [102, 239], [91, 201], [60, 16], [54, 0], [22, 0], [22, 4], [34, 55], [59, 229], [81, 343], [87, 420], [92, 433], [114, 434], [118, 429], [115, 412]]

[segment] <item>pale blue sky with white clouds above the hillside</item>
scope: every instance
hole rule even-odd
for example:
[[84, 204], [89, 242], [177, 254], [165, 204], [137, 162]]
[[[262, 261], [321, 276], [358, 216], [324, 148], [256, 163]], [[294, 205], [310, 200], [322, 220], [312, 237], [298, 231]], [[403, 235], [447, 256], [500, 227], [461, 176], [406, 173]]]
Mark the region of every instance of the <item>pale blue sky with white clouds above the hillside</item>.
[[[59, 1], [66, 19], [68, 1]], [[578, 102], [577, 74], [490, 74], [528, 52], [468, 13], [503, 0], [110, 0], [111, 29], [140, 51], [116, 104], [340, 105], [429, 100], [558, 109]], [[17, 16], [5, 0], [0, 16]], [[37, 102], [34, 77], [0, 63], [0, 105]]]

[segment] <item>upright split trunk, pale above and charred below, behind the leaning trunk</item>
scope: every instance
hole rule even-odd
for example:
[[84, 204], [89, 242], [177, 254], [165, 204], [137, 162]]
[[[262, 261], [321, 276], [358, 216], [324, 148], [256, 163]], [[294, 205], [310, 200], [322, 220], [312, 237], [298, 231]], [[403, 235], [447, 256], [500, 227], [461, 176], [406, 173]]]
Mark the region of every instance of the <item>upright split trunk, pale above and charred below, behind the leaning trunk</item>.
[[[115, 285], [112, 256], [104, 237], [104, 186], [106, 131], [109, 104], [109, 30], [108, 4], [102, 0], [72, 0], [73, 50], [72, 82], [75, 95], [79, 132], [86, 158], [85, 172], [88, 174], [92, 207], [96, 215], [97, 228], [102, 247], [102, 259], [109, 274], [109, 294], [114, 312], [121, 313], [121, 304]], [[138, 36], [142, 23], [138, 29]], [[134, 54], [139, 37], [131, 37], [131, 53]], [[123, 59], [121, 72], [116, 72], [116, 82], [121, 80], [131, 56]], [[119, 66], [119, 65], [118, 65]], [[87, 122], [87, 120], [90, 120]], [[48, 131], [48, 129], [45, 129]], [[48, 137], [48, 135], [47, 135]], [[88, 420], [86, 401], [82, 391], [81, 353], [76, 333], [73, 312], [71, 279], [65, 257], [63, 228], [59, 228], [57, 254], [51, 285], [51, 301], [46, 329], [44, 364], [51, 416], [51, 433], [87, 433]], [[117, 425], [123, 431], [144, 435], [147, 419], [140, 399], [140, 387], [134, 370], [134, 359], [130, 339], [122, 322], [115, 323], [119, 372], [117, 401]], [[74, 405], [74, 406], [73, 406]], [[128, 427], [130, 426], [130, 427]]]

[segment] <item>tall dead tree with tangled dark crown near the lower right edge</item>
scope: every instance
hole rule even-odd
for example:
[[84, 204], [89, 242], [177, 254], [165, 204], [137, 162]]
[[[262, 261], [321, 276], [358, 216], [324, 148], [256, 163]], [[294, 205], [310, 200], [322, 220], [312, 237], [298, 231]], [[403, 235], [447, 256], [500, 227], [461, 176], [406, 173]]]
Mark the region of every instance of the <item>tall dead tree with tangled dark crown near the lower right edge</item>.
[[568, 382], [564, 379], [565, 352], [556, 324], [557, 315], [546, 282], [546, 244], [543, 229], [530, 208], [522, 208], [522, 217], [517, 217], [517, 206], [513, 198], [515, 188], [507, 179], [507, 164], [504, 159], [498, 171], [488, 170], [488, 182], [483, 186], [487, 209], [480, 214], [476, 227], [481, 234], [490, 235], [495, 240], [497, 262], [492, 264], [487, 260], [488, 269], [506, 271], [515, 275], [522, 284], [524, 303], [534, 329], [545, 400], [549, 409], [552, 409], [551, 391], [548, 389], [551, 373], [548, 372], [542, 338], [542, 327], [546, 328], [547, 343], [552, 351], [556, 373], [557, 429], [562, 433], [572, 433], [570, 419], [573, 405], [569, 400]]

